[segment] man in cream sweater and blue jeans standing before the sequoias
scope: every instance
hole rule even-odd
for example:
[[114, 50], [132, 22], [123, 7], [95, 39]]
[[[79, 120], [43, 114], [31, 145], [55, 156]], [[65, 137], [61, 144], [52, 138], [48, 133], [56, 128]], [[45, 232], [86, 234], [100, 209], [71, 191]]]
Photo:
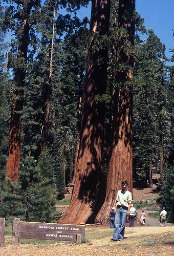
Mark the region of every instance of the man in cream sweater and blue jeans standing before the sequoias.
[[116, 199], [116, 215], [114, 223], [114, 233], [111, 241], [121, 241], [124, 239], [124, 230], [126, 216], [129, 216], [130, 207], [132, 204], [132, 194], [127, 190], [127, 181], [122, 181], [122, 189], [118, 190]]

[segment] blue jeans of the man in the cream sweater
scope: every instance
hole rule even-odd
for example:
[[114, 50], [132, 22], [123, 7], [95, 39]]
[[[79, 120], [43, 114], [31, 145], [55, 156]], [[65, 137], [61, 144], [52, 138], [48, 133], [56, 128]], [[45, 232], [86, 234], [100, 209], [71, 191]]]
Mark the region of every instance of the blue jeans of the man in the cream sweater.
[[114, 223], [113, 240], [122, 240], [124, 238], [124, 230], [126, 224], [127, 210], [122, 207], [117, 208]]

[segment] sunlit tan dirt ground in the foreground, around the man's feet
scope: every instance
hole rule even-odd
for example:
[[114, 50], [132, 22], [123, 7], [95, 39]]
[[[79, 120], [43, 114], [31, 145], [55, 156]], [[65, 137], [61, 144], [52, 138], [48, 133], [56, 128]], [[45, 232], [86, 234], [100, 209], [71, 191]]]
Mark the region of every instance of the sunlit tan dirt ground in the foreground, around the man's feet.
[[174, 226], [166, 227], [126, 227], [122, 242], [111, 242], [112, 229], [86, 227], [87, 243], [19, 244], [0, 248], [1, 256], [110, 256], [110, 255], [173, 255]]

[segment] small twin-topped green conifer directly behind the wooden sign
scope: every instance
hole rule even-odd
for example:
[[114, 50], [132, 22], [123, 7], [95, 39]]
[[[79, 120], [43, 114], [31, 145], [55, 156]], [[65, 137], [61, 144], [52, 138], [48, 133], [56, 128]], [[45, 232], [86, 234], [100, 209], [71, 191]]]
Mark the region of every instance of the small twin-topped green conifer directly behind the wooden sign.
[[52, 159], [43, 152], [37, 165], [33, 160], [29, 156], [21, 172], [21, 183], [28, 185], [25, 190], [28, 218], [30, 221], [54, 222], [58, 212], [55, 208], [57, 193]]

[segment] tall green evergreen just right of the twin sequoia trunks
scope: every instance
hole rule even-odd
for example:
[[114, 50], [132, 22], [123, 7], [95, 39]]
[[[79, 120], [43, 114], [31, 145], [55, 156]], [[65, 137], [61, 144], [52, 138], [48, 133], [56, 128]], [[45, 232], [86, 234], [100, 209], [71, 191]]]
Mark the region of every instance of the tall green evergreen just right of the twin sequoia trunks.
[[[151, 183], [151, 166], [166, 148], [170, 130], [169, 86], [165, 66], [165, 46], [148, 31], [147, 41], [138, 46], [135, 57], [134, 89], [134, 175], [146, 185]], [[148, 128], [147, 128], [148, 127]], [[162, 146], [162, 147], [161, 147]], [[160, 162], [162, 162], [161, 160]]]

